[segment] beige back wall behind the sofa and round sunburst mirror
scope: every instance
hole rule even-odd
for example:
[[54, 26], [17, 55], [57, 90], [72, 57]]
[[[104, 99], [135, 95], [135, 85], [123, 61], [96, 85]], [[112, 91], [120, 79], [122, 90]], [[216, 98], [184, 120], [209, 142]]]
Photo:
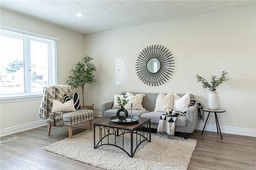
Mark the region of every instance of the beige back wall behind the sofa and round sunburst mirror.
[[[244, 7], [203, 15], [161, 21], [130, 28], [89, 34], [86, 53], [95, 58], [97, 83], [87, 87], [87, 104], [112, 101], [121, 91], [190, 92], [207, 106], [208, 91], [197, 83], [229, 73], [220, 85], [220, 125], [256, 130], [256, 7]], [[162, 86], [150, 87], [137, 77], [135, 62], [141, 50], [152, 44], [165, 45], [175, 57], [175, 74]], [[115, 86], [115, 57], [127, 57], [127, 85]], [[210, 118], [209, 124], [215, 124]]]

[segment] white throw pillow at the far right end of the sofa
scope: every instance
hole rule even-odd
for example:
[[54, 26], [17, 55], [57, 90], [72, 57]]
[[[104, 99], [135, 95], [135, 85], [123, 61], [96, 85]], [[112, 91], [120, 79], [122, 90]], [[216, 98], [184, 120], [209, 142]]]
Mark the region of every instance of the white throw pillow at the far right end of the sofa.
[[174, 110], [179, 112], [185, 112], [188, 108], [189, 103], [190, 103], [189, 92], [187, 92], [182, 97], [174, 93]]

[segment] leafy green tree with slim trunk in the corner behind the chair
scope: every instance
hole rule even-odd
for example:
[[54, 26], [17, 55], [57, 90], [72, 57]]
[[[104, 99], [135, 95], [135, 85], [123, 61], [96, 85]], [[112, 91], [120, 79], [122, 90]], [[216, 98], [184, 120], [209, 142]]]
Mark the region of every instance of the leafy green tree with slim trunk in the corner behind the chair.
[[73, 76], [69, 76], [67, 83], [72, 88], [82, 88], [82, 105], [84, 106], [84, 86], [96, 82], [94, 72], [96, 67], [92, 63], [93, 58], [85, 55], [81, 61], [76, 63], [75, 68], [72, 69]]

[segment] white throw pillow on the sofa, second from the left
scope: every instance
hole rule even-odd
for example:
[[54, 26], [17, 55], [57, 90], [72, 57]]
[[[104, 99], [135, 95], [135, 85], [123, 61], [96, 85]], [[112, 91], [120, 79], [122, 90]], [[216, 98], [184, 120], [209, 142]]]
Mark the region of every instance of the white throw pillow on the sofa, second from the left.
[[143, 108], [143, 106], [141, 104], [144, 96], [146, 96], [145, 94], [133, 95], [130, 92], [126, 92], [126, 95], [127, 95], [126, 99], [129, 100], [129, 101], [124, 106], [125, 109], [131, 110], [131, 103], [133, 103], [133, 110], [146, 110], [146, 109]]

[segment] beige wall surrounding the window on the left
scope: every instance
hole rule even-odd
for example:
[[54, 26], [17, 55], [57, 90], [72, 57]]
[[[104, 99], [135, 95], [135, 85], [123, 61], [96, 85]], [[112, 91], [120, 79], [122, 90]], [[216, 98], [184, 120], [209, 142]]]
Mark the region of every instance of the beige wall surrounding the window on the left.
[[[59, 38], [58, 84], [66, 84], [71, 69], [84, 55], [82, 34], [4, 9], [1, 9], [1, 25]], [[40, 102], [41, 99], [1, 103], [1, 129], [41, 120], [38, 117]]]

